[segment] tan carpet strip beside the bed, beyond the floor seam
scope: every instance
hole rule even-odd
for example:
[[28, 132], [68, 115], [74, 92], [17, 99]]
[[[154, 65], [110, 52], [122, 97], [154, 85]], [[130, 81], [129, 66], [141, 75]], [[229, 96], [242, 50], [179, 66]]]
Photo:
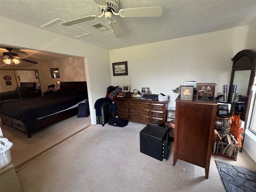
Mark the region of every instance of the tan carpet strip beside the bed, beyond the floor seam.
[[12, 164], [15, 168], [19, 168], [90, 124], [90, 116], [84, 118], [73, 116], [32, 133], [31, 138], [28, 138], [26, 133], [6, 124], [1, 123], [1, 129], [4, 137], [13, 143], [10, 149]]

